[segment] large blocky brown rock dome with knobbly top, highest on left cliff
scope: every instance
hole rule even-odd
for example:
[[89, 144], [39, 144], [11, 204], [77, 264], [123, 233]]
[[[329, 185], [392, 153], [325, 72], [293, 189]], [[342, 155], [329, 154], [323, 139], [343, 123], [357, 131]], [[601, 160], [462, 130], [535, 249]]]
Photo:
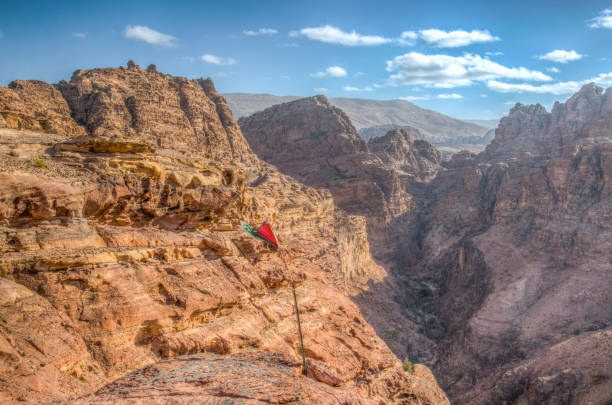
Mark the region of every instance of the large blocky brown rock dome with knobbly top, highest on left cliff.
[[146, 139], [220, 161], [252, 160], [210, 79], [187, 80], [131, 63], [127, 69], [78, 70], [58, 88], [74, 119], [91, 135]]

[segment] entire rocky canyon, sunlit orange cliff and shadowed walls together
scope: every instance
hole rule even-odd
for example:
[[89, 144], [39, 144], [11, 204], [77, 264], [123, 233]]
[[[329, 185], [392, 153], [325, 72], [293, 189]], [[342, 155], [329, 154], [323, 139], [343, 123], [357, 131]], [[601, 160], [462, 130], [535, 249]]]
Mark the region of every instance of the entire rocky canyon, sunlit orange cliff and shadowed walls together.
[[612, 400], [612, 89], [446, 161], [287, 101], [236, 122], [131, 61], [0, 87], [0, 401]]

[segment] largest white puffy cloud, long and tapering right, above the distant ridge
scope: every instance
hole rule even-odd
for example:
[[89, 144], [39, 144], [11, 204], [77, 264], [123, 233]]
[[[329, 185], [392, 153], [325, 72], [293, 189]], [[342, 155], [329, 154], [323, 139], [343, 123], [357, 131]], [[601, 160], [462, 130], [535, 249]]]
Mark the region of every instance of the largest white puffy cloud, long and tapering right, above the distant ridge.
[[424, 55], [410, 52], [387, 61], [388, 72], [394, 72], [388, 84], [453, 88], [469, 86], [474, 81], [497, 78], [548, 81], [552, 78], [537, 70], [506, 67], [480, 55]]

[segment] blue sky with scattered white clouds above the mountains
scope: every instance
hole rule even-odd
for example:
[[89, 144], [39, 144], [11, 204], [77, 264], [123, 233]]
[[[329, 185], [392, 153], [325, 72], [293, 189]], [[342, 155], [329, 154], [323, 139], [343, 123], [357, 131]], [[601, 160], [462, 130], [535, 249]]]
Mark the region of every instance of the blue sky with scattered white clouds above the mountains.
[[612, 86], [612, 0], [2, 4], [2, 86], [132, 59], [222, 93], [404, 99], [462, 119]]

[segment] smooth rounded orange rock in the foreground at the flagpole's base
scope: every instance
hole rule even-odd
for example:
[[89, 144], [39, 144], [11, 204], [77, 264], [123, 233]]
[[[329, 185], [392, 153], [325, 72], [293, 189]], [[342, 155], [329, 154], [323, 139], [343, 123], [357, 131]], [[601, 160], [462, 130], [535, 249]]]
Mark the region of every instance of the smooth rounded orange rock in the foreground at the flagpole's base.
[[[386, 385], [333, 388], [301, 375], [294, 358], [270, 352], [242, 352], [228, 356], [198, 354], [181, 356], [148, 366], [107, 385], [94, 395], [69, 403], [76, 404], [363, 404], [364, 395], [389, 396], [396, 391], [395, 403], [440, 403], [445, 399], [432, 393], [429, 369], [417, 366], [414, 374], [403, 374]], [[411, 381], [412, 380], [412, 381]]]

